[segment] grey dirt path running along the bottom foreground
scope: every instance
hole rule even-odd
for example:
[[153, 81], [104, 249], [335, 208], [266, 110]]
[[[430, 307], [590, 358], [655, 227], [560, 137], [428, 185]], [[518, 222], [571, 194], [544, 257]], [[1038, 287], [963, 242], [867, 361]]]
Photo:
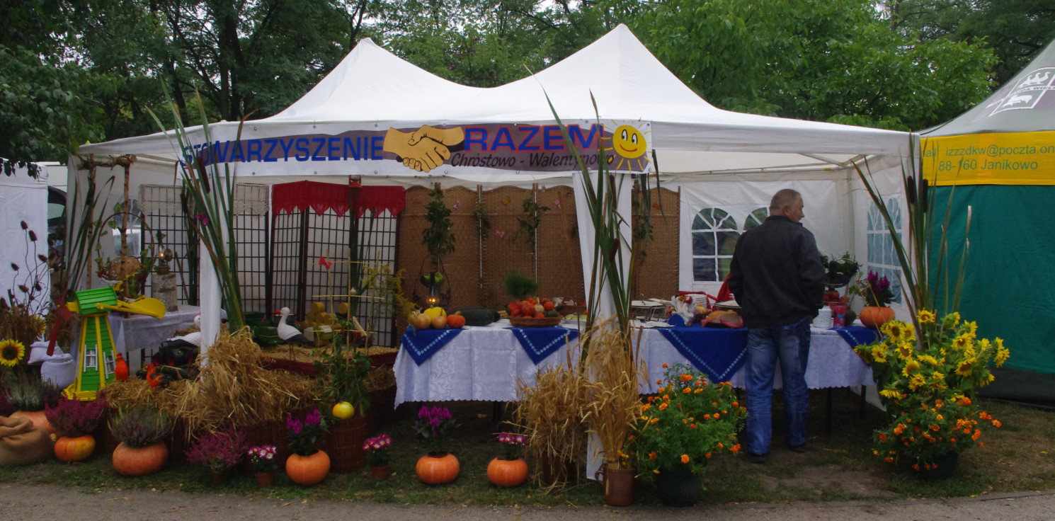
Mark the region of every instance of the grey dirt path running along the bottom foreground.
[[414, 520], [511, 519], [633, 520], [707, 519], [708, 521], [805, 520], [1027, 520], [1055, 517], [1055, 491], [990, 495], [952, 500], [881, 502], [828, 502], [783, 504], [708, 505], [684, 509], [631, 506], [589, 507], [452, 507], [400, 506], [341, 501], [258, 500], [212, 494], [104, 491], [98, 495], [52, 486], [0, 484], [0, 520], [77, 521], [202, 521], [202, 520]]

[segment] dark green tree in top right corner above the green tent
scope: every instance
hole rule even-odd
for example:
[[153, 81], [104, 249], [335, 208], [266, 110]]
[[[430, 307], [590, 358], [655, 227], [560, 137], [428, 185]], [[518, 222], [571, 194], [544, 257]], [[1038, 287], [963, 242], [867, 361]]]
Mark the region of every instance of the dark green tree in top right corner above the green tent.
[[982, 43], [1000, 62], [996, 85], [1010, 80], [1055, 39], [1051, 0], [891, 0], [894, 26], [924, 41]]

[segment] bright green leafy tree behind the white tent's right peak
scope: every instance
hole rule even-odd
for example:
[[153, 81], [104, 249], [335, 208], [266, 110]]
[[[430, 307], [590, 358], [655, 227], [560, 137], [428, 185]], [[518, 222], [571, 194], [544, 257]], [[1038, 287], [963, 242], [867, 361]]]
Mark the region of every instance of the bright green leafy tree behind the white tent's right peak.
[[632, 16], [635, 34], [722, 109], [922, 129], [989, 93], [992, 53], [919, 41], [868, 0], [663, 0]]

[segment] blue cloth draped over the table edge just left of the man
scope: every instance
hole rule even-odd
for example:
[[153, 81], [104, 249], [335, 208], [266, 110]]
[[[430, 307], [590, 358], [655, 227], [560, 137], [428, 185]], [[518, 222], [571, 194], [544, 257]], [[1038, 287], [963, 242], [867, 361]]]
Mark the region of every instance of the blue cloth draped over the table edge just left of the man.
[[747, 356], [747, 328], [671, 327], [659, 329], [667, 341], [714, 382], [726, 382]]

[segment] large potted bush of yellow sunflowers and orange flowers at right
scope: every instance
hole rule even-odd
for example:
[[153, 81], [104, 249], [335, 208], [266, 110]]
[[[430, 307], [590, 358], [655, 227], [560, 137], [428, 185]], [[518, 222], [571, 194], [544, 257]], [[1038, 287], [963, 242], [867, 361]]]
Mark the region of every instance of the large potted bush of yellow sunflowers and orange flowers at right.
[[904, 322], [883, 325], [884, 337], [855, 351], [871, 364], [890, 423], [876, 431], [875, 454], [923, 476], [952, 475], [961, 451], [981, 445], [980, 427], [1000, 422], [981, 411], [974, 389], [993, 381], [990, 364], [1001, 366], [1010, 353], [1003, 341], [978, 339], [973, 322], [959, 313], [937, 320], [934, 312], [917, 314], [916, 329]]

